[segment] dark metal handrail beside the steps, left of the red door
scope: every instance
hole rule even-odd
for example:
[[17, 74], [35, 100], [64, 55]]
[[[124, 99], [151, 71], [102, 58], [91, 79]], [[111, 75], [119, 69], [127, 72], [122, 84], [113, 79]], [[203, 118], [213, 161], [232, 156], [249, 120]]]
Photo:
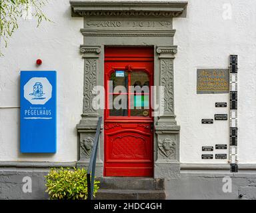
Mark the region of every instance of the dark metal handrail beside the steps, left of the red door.
[[95, 166], [97, 159], [97, 150], [99, 144], [99, 134], [101, 133], [101, 120], [102, 117], [99, 117], [97, 123], [97, 130], [93, 142], [93, 150], [91, 151], [90, 163], [87, 170], [87, 192], [88, 192], [88, 200], [93, 200], [93, 191], [94, 191], [94, 178], [95, 178]]

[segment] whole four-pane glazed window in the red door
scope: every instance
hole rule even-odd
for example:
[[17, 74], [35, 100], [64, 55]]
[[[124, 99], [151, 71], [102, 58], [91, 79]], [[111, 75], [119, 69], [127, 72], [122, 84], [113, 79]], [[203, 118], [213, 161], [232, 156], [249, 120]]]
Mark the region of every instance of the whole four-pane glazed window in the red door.
[[[130, 75], [130, 77], [129, 77]], [[109, 79], [113, 83], [113, 93], [109, 103], [113, 103], [113, 108], [109, 109], [109, 116], [142, 116], [149, 117], [149, 76], [144, 71], [121, 71], [111, 73]], [[133, 86], [128, 91], [128, 86]], [[123, 89], [121, 88], [123, 87]], [[109, 91], [111, 93], [111, 91]], [[129, 92], [128, 95], [121, 94]], [[111, 107], [111, 106], [109, 106]]]

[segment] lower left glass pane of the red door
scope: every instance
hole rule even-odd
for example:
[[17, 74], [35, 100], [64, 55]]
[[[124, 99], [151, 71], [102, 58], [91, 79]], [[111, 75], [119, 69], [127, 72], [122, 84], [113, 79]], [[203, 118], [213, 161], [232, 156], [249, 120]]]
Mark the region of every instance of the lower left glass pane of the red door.
[[[128, 99], [127, 95], [113, 95], [113, 107], [109, 109], [110, 116], [127, 116]], [[109, 106], [111, 107], [111, 106]]]

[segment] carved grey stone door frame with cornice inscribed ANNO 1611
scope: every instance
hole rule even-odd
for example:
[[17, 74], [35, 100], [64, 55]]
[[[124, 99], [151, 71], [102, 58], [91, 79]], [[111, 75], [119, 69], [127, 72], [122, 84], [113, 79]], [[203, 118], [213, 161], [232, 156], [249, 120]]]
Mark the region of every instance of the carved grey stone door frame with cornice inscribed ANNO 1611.
[[[72, 16], [83, 17], [81, 29], [84, 59], [83, 114], [77, 124], [77, 166], [87, 166], [99, 116], [104, 110], [92, 107], [92, 89], [104, 84], [104, 47], [153, 46], [154, 85], [165, 87], [163, 116], [154, 119], [154, 176], [169, 178], [179, 173], [179, 129], [175, 120], [173, 94], [173, 17], [185, 17], [187, 2], [70, 1]], [[103, 131], [103, 126], [101, 130]], [[103, 176], [104, 138], [101, 133], [96, 175]]]

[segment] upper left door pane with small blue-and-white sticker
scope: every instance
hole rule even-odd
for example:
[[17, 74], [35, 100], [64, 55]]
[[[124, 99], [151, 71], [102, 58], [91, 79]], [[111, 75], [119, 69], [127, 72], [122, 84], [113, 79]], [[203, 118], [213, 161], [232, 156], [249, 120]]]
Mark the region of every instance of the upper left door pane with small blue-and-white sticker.
[[[120, 86], [123, 86], [128, 91], [128, 73], [127, 71], [115, 71], [111, 73], [109, 81], [113, 82], [113, 92], [119, 93]], [[115, 89], [115, 87], [117, 87]]]

